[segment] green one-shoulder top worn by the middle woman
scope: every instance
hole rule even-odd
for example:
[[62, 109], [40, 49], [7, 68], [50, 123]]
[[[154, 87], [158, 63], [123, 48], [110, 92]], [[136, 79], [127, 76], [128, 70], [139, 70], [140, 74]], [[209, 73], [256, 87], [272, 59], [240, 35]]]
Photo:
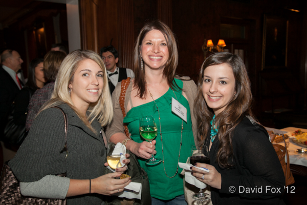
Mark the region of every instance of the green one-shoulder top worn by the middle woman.
[[[182, 80], [174, 80], [176, 81], [177, 85], [182, 88]], [[179, 162], [185, 163], [187, 158], [190, 156], [191, 146], [195, 144], [192, 132], [191, 113], [188, 100], [182, 95], [182, 91], [177, 89], [174, 90], [174, 93], [176, 93], [179, 103], [181, 103], [187, 109], [188, 122], [183, 121], [182, 147], [179, 160]], [[168, 176], [173, 176], [176, 173], [181, 138], [182, 119], [171, 111], [172, 97], [176, 99], [174, 93], [171, 89], [168, 89], [163, 96], [155, 99], [160, 111], [164, 164], [165, 171]], [[157, 154], [155, 156], [162, 159], [159, 113], [153, 101], [131, 108], [131, 110], [127, 112], [123, 122], [127, 124], [129, 132], [131, 133], [131, 138], [134, 141], [141, 143], [144, 139], [140, 136], [139, 119], [149, 115], [155, 118], [158, 127], [158, 135], [156, 138]], [[178, 174], [173, 178], [168, 178], [164, 172], [162, 162], [160, 162], [158, 165], [146, 165], [146, 159], [139, 158], [138, 160], [140, 166], [148, 174], [151, 197], [168, 200], [184, 194], [183, 176], [180, 174], [182, 169], [179, 168]]]

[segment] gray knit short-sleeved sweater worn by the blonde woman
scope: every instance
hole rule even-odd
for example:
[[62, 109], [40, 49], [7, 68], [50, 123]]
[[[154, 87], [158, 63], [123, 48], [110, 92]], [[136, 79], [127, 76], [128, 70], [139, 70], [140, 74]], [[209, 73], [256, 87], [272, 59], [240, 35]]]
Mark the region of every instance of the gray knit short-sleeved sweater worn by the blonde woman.
[[[38, 181], [46, 175], [67, 173], [71, 179], [93, 179], [103, 175], [106, 157], [100, 134], [101, 125], [94, 120], [87, 128], [67, 105], [60, 105], [68, 117], [68, 157], [64, 148], [64, 117], [56, 108], [41, 112], [34, 120], [29, 135], [9, 162], [19, 181]], [[103, 196], [87, 194], [68, 198], [68, 204], [101, 204]]]

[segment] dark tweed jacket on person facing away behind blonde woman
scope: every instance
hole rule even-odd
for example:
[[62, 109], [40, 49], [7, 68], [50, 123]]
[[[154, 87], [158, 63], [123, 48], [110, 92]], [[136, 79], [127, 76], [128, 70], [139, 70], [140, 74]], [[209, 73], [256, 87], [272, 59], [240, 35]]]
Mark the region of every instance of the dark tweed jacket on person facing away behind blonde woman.
[[29, 104], [27, 121], [26, 121], [26, 130], [30, 129], [33, 120], [35, 119], [42, 105], [45, 104], [51, 98], [53, 90], [54, 90], [54, 82], [49, 83], [44, 87], [42, 87], [41, 89], [35, 91]]

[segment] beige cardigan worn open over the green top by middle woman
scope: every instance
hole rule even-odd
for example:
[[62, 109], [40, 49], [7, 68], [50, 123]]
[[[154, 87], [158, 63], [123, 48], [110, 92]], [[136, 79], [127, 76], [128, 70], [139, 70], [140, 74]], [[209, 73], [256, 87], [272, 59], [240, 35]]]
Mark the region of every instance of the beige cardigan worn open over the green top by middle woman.
[[[198, 127], [196, 125], [196, 118], [194, 114], [194, 99], [197, 95], [198, 88], [195, 85], [194, 81], [191, 80], [189, 77], [178, 77], [178, 79], [182, 79], [183, 81], [183, 92], [187, 96], [187, 100], [189, 102], [189, 107], [191, 111], [191, 121], [192, 121], [192, 130], [193, 130], [193, 136], [194, 136], [194, 141], [195, 145], [198, 144]], [[130, 79], [131, 82], [131, 79]], [[128, 102], [130, 100], [130, 95], [131, 95], [131, 90], [132, 90], [132, 83], [129, 84], [128, 89], [126, 91], [125, 95], [125, 112], [127, 113], [127, 106]], [[109, 139], [112, 137], [112, 135], [122, 132], [125, 133], [124, 127], [123, 127], [123, 114], [119, 105], [119, 96], [121, 92], [121, 83], [118, 83], [113, 94], [112, 94], [112, 101], [113, 101], [113, 111], [114, 111], [114, 117], [111, 122], [107, 126], [106, 129], [106, 138]]]

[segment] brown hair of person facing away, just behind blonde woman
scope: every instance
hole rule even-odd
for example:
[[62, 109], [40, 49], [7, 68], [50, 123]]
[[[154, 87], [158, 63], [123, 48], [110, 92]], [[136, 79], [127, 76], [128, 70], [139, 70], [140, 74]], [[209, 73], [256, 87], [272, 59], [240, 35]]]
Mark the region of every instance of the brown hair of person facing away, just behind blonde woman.
[[66, 54], [62, 51], [49, 51], [43, 58], [43, 74], [48, 83], [55, 82], [57, 72]]

